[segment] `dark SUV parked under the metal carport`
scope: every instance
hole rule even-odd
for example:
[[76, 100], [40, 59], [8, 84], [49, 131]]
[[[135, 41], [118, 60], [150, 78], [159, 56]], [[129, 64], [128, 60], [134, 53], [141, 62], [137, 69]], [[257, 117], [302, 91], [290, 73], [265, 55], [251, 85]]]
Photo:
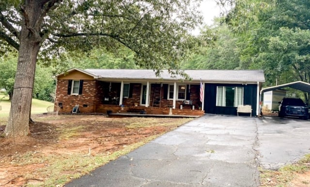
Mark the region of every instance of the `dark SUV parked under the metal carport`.
[[309, 117], [308, 106], [299, 98], [283, 98], [279, 104], [279, 117], [295, 116], [305, 120]]

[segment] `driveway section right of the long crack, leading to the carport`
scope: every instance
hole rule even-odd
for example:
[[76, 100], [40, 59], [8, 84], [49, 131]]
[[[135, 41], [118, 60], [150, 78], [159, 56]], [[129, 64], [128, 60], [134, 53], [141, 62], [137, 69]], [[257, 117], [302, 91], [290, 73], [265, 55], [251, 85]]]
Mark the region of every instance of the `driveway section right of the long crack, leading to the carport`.
[[310, 154], [310, 120], [265, 116], [256, 121], [263, 168], [278, 169]]

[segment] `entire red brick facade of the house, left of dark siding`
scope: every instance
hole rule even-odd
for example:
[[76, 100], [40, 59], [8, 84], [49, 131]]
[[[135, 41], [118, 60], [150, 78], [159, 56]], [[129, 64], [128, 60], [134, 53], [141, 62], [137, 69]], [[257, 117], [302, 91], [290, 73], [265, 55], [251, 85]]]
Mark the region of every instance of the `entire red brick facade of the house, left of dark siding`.
[[[160, 84], [151, 84], [150, 87], [150, 105], [149, 107], [140, 105], [141, 86], [140, 83], [130, 84], [130, 97], [123, 99], [124, 110], [119, 106], [121, 83], [110, 83], [96, 80], [83, 80], [83, 89], [80, 95], [68, 94], [69, 80], [59, 79], [57, 81], [55, 104], [61, 107], [60, 113], [71, 113], [73, 107], [78, 104], [80, 113], [107, 113], [107, 111], [127, 112], [130, 110], [144, 110], [147, 114], [169, 114], [169, 106], [172, 100], [167, 99], [167, 90], [165, 91]], [[189, 86], [189, 85], [187, 85]], [[199, 85], [190, 85], [187, 88], [192, 105], [184, 105], [183, 101], [176, 101], [176, 109], [173, 109], [175, 115], [203, 115], [204, 112], [198, 110]], [[135, 106], [137, 104], [138, 106]], [[184, 110], [180, 110], [180, 105]], [[195, 110], [192, 110], [194, 106]]]

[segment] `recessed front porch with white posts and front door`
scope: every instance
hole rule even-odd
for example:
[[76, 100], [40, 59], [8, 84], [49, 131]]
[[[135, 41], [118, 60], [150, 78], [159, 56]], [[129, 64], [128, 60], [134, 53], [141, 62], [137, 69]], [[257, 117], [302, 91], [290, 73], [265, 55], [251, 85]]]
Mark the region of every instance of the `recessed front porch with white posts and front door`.
[[[100, 105], [202, 110], [200, 85], [176, 82], [152, 83], [98, 81]], [[100, 107], [99, 107], [100, 108]]]

